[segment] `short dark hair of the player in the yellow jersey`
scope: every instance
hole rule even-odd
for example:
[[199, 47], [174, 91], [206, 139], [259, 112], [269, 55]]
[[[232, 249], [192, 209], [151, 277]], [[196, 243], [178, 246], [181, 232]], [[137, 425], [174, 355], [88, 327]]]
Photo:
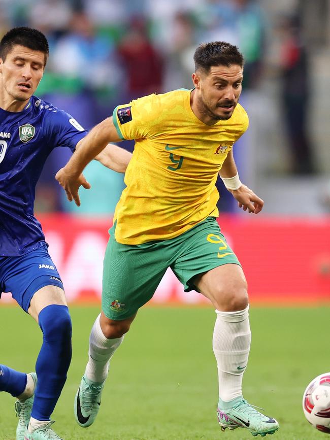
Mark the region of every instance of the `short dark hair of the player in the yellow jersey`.
[[214, 41], [212, 43], [202, 43], [197, 47], [193, 55], [195, 70], [209, 72], [212, 66], [232, 64], [244, 65], [244, 59], [237, 46], [224, 41]]

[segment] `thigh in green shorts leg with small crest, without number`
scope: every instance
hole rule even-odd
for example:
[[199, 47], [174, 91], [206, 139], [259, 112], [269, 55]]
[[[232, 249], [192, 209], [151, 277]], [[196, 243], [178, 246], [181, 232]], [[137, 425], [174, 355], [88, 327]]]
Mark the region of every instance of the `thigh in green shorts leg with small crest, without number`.
[[103, 268], [105, 316], [123, 320], [135, 315], [152, 298], [168, 266], [160, 242], [123, 245], [111, 234]]

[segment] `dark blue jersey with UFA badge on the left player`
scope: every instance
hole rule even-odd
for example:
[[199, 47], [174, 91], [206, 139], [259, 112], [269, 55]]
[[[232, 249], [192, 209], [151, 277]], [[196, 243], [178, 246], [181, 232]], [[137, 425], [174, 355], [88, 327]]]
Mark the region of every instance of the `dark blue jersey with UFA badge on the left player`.
[[55, 147], [75, 150], [86, 135], [68, 113], [31, 96], [21, 112], [0, 108], [0, 255], [19, 256], [45, 244], [34, 216], [35, 188]]

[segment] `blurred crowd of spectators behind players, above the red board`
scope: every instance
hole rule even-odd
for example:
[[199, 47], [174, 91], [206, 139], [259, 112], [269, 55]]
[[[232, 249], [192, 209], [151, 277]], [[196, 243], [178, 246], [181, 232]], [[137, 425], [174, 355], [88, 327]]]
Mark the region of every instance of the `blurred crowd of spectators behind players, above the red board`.
[[[191, 88], [192, 56], [201, 42], [236, 44], [245, 57], [244, 90], [257, 90], [270, 41], [268, 16], [258, 0], [0, 0], [0, 35], [21, 25], [43, 31], [50, 45], [36, 94], [71, 113], [87, 129], [110, 116], [118, 104], [149, 93]], [[307, 52], [298, 21], [287, 18], [279, 28], [291, 171], [312, 173], [305, 129]], [[123, 145], [132, 149], [129, 142]], [[69, 150], [67, 155], [55, 150], [49, 158], [38, 186], [37, 211], [75, 210], [53, 179], [69, 155]], [[89, 165], [86, 176], [94, 190], [82, 194], [79, 212], [113, 212], [124, 187], [122, 176], [98, 163]], [[230, 210], [222, 193], [219, 207]]]

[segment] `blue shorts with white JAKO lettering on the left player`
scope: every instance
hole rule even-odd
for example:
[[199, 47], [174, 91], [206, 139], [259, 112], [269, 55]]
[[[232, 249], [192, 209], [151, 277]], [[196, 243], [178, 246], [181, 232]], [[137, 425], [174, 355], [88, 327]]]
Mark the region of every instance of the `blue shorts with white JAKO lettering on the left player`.
[[46, 244], [19, 257], [0, 257], [0, 297], [1, 292], [11, 292], [25, 312], [32, 296], [49, 285], [63, 289]]

